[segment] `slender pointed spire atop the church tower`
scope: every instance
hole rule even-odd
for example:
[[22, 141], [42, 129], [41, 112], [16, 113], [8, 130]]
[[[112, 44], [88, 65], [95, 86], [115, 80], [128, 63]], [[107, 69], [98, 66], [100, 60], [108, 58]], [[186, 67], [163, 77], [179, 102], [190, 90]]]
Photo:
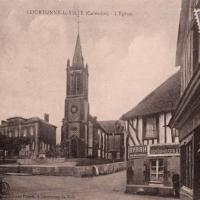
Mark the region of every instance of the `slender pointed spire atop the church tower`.
[[81, 41], [80, 41], [79, 34], [77, 35], [77, 39], [76, 39], [76, 46], [75, 46], [72, 66], [74, 66], [74, 67], [82, 67], [82, 66], [84, 66], [82, 50], [81, 50]]

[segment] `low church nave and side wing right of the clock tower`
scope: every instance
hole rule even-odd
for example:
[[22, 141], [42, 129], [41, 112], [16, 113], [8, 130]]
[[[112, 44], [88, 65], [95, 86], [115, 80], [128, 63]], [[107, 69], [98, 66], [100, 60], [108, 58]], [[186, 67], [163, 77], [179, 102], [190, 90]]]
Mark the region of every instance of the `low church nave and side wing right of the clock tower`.
[[124, 159], [124, 124], [117, 120], [97, 121], [89, 115], [87, 155], [91, 158]]

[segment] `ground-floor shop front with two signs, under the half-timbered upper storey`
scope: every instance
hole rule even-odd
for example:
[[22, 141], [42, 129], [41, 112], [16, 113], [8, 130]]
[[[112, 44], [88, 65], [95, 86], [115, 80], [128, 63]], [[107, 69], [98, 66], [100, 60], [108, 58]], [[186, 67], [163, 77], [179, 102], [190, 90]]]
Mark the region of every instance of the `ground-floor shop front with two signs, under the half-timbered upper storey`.
[[127, 192], [173, 195], [172, 177], [179, 176], [179, 145], [128, 147]]

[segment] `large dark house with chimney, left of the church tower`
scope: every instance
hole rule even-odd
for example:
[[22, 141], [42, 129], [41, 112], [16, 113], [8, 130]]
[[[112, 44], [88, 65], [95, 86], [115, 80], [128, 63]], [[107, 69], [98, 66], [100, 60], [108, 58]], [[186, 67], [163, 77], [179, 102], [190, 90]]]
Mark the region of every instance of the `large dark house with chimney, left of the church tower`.
[[12, 117], [0, 125], [0, 155], [10, 158], [31, 158], [51, 154], [56, 145], [56, 126], [39, 117]]

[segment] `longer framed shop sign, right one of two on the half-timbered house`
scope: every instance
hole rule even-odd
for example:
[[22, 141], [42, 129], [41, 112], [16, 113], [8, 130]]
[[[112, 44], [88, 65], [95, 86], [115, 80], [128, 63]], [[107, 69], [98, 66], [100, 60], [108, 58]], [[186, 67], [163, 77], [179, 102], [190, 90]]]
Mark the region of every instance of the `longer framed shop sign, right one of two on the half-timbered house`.
[[150, 154], [179, 154], [179, 145], [150, 146]]

